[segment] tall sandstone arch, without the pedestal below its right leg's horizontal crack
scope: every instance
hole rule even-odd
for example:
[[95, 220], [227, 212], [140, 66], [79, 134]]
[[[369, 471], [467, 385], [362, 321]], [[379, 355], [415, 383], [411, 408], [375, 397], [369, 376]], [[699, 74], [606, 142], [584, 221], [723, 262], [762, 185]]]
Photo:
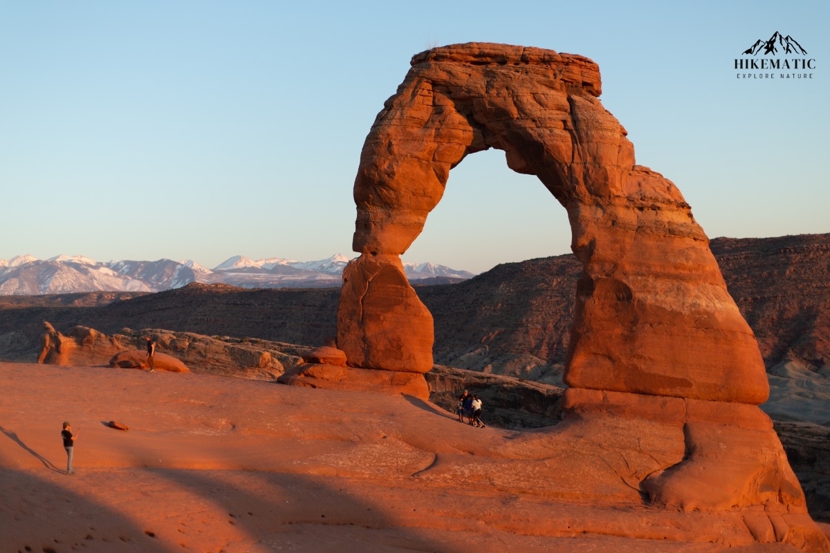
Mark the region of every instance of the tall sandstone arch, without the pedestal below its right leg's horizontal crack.
[[[674, 184], [635, 164], [600, 91], [597, 65], [582, 56], [471, 43], [413, 57], [366, 138], [354, 183], [353, 249], [361, 256], [346, 270], [338, 318], [338, 346], [350, 364], [383, 367], [388, 359], [386, 368], [399, 371], [403, 348], [410, 370], [432, 366], [432, 342], [421, 339], [432, 332], [426, 308], [388, 301], [405, 295], [403, 275], [390, 284], [374, 275], [398, 269], [450, 169], [470, 153], [499, 148], [510, 168], [539, 177], [571, 223], [583, 273], [569, 386], [766, 399], [758, 345], [706, 235]], [[374, 265], [382, 270], [359, 270]], [[393, 347], [387, 332], [403, 346]]]

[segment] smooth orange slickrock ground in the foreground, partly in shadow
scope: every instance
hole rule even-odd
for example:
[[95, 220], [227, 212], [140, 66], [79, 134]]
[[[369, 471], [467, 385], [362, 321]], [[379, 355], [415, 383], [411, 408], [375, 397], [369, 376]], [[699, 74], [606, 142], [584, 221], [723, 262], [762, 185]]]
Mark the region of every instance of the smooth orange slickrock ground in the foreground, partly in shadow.
[[[740, 516], [645, 507], [622, 479], [569, 497], [608, 467], [557, 467], [559, 426], [212, 375], [0, 363], [0, 384], [4, 551], [798, 551], [749, 545]], [[82, 426], [76, 476], [63, 420]], [[571, 446], [601, 456], [612, 434]]]

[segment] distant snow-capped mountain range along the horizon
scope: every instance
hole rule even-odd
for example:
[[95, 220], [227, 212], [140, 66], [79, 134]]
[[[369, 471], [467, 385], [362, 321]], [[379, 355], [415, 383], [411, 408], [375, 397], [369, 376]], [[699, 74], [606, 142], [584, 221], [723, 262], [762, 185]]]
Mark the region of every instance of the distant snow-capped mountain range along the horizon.
[[[56, 255], [38, 260], [18, 255], [0, 260], [0, 295], [39, 295], [78, 292], [161, 292], [197, 282], [232, 284], [240, 288], [339, 287], [349, 258], [342, 254], [325, 260], [282, 258], [250, 260], [242, 255], [207, 269], [193, 260], [99, 262], [83, 255]], [[452, 284], [472, 278], [468, 271], [432, 263], [404, 263], [413, 284]]]

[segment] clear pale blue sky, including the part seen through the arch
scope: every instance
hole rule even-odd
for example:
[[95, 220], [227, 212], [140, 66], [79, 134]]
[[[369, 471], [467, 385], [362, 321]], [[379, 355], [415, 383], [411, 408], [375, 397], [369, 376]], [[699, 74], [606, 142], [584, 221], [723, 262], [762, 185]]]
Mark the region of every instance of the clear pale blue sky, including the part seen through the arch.
[[[0, 259], [351, 252], [383, 101], [433, 45], [588, 56], [637, 162], [710, 237], [830, 232], [830, 2], [0, 0]], [[773, 32], [813, 80], [735, 78]], [[480, 272], [569, 251], [564, 210], [498, 151], [453, 170], [404, 260]]]

